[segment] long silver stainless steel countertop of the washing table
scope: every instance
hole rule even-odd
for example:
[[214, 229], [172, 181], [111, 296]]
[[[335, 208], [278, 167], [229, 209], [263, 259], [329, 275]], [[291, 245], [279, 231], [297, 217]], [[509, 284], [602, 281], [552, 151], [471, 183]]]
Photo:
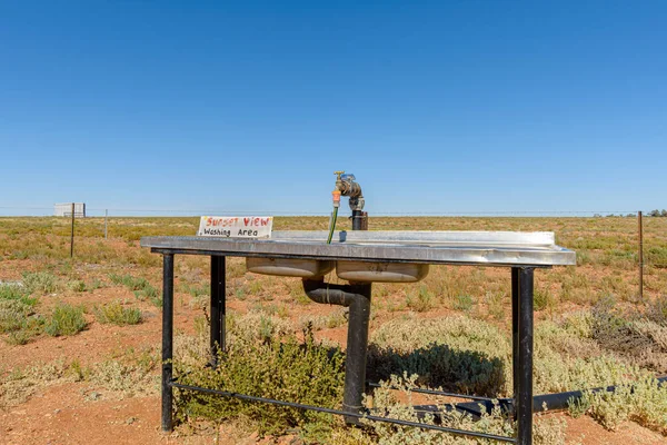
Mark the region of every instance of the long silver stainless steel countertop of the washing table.
[[156, 253], [349, 259], [486, 266], [576, 265], [573, 250], [556, 246], [552, 233], [535, 231], [273, 231], [270, 239], [175, 237], [141, 238]]

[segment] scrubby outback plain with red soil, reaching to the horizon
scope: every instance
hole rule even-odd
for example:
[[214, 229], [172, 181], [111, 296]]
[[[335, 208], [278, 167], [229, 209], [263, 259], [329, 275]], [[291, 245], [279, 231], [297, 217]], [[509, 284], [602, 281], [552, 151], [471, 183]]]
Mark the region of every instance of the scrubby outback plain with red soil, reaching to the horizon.
[[[286, 217], [276, 219], [275, 229], [325, 230], [327, 224], [326, 218]], [[535, 392], [584, 389], [585, 396], [566, 413], [538, 414], [538, 444], [586, 444], [600, 434], [611, 443], [631, 443], [628, 437], [637, 434], [646, 443], [667, 437], [667, 386], [655, 378], [667, 374], [667, 218], [646, 218], [644, 224], [640, 299], [633, 218], [370, 220], [372, 229], [388, 230], [549, 230], [559, 245], [577, 251], [577, 267], [536, 274]], [[28, 434], [26, 416], [33, 416], [33, 423], [39, 418], [44, 431], [67, 425], [54, 424], [64, 407], [48, 422], [39, 408], [50, 395], [59, 403], [59, 390], [69, 394], [77, 413], [120, 413], [132, 406], [140, 414], [93, 428], [157, 443], [161, 260], [138, 240], [191, 235], [198, 220], [112, 218], [109, 239], [100, 219], [77, 220], [76, 226], [70, 258], [68, 220], [0, 218], [0, 423], [9, 428], [0, 429], [0, 443], [2, 435], [8, 443], [30, 443], [21, 436]], [[176, 258], [175, 366], [182, 382], [340, 406], [345, 309], [311, 303], [298, 279], [248, 274], [242, 259], [230, 258], [229, 348], [213, 370], [206, 366], [208, 258]], [[336, 276], [328, 279], [336, 281]], [[368, 396], [367, 406], [436, 422], [420, 407], [452, 399], [418, 395], [415, 387], [508, 396], [508, 290], [507, 269], [482, 267], [431, 267], [416, 285], [375, 284], [368, 373], [384, 384]], [[586, 390], [606, 385], [618, 385], [618, 390]], [[38, 395], [40, 404], [32, 404]], [[385, 424], [349, 429], [325, 414], [187, 390], [178, 392], [177, 399], [180, 423], [172, 438], [179, 443], [480, 443]], [[498, 407], [480, 421], [450, 416], [441, 422], [496, 434], [514, 428]], [[39, 428], [32, 441], [43, 442]]]

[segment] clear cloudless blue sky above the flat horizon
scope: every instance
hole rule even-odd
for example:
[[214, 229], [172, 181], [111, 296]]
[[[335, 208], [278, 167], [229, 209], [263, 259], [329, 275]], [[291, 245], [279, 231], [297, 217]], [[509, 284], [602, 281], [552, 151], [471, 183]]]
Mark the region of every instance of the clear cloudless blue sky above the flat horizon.
[[338, 169], [371, 215], [665, 208], [666, 23], [665, 1], [6, 1], [0, 215], [323, 215]]

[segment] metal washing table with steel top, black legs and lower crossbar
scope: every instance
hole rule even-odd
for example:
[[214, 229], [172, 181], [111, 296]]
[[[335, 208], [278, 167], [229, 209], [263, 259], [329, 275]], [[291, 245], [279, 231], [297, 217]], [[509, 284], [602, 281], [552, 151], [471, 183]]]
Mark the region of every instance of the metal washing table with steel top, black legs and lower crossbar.
[[[338, 231], [334, 243], [323, 240], [326, 231], [275, 231], [270, 239], [211, 238], [211, 237], [143, 237], [142, 247], [163, 257], [162, 308], [162, 429], [172, 428], [173, 387], [238, 397], [247, 400], [313, 409], [345, 416], [348, 423], [359, 418], [411, 425], [452, 434], [491, 438], [501, 442], [532, 443], [532, 281], [536, 268], [576, 264], [575, 253], [556, 246], [552, 233], [510, 231]], [[305, 293], [318, 303], [350, 307], [344, 409], [330, 409], [287, 400], [228, 393], [215, 388], [181, 385], [172, 375], [173, 353], [173, 256], [206, 255], [211, 257], [211, 353], [225, 348], [225, 258], [268, 258], [271, 261], [290, 260], [311, 265], [337, 266], [340, 277], [346, 275], [350, 285], [327, 285], [321, 276], [303, 278]], [[255, 260], [250, 260], [255, 261]], [[310, 263], [309, 263], [310, 261]], [[248, 263], [250, 266], [250, 263]], [[365, 267], [357, 275], [350, 265]], [[428, 273], [428, 265], [497, 266], [511, 269], [511, 330], [514, 415], [517, 421], [516, 437], [496, 436], [439, 425], [425, 425], [365, 413], [361, 396], [366, 379], [366, 347], [368, 344], [368, 316], [370, 313], [370, 281], [409, 281], [391, 275], [392, 267], [406, 266], [420, 270], [412, 281]], [[270, 267], [269, 267], [270, 269]], [[258, 269], [258, 270], [261, 270]], [[291, 275], [277, 266], [276, 275]], [[261, 273], [270, 273], [261, 271]], [[375, 275], [374, 275], [375, 274]], [[316, 274], [317, 275], [317, 274]], [[398, 278], [397, 278], [398, 276]], [[356, 278], [358, 277], [358, 278]], [[448, 395], [448, 393], [438, 393]], [[459, 395], [472, 400], [486, 397]]]

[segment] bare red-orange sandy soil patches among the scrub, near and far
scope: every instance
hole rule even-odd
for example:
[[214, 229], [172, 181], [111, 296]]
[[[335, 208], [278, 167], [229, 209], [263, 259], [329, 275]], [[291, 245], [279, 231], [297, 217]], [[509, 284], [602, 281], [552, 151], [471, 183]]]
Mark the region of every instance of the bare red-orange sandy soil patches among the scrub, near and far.
[[[16, 269], [14, 269], [16, 270]], [[4, 274], [4, 273], [3, 273]], [[4, 274], [4, 278], [16, 274]], [[41, 298], [40, 312], [48, 310], [58, 300], [71, 304], [83, 304], [91, 308], [100, 303], [113, 299], [136, 301], [133, 295], [120, 287], [101, 288], [92, 293], [68, 294], [67, 296], [46, 296]], [[289, 297], [277, 297], [277, 303], [289, 301]], [[178, 332], [191, 333], [192, 319], [200, 315], [190, 308], [183, 299], [177, 297], [175, 308], [175, 326]], [[87, 315], [90, 324], [82, 333], [71, 337], [42, 336], [23, 346], [10, 346], [0, 342], [0, 367], [4, 370], [21, 368], [31, 364], [46, 364], [58, 359], [68, 363], [78, 359], [82, 366], [103, 360], [115, 350], [127, 347], [151, 346], [159, 348], [161, 338], [160, 310], [148, 303], [137, 303], [145, 315], [143, 323], [137, 326], [117, 327], [101, 325], [94, 317]], [[245, 312], [247, 301], [230, 301], [229, 307], [236, 312]], [[331, 309], [321, 305], [299, 306], [289, 303], [290, 318], [297, 320], [303, 314], [327, 314]], [[434, 312], [430, 316], [442, 316]], [[380, 323], [376, 319], [374, 323]], [[345, 345], [346, 327], [323, 329], [318, 337], [327, 337]], [[91, 392], [98, 393], [90, 397]], [[640, 427], [635, 423], [626, 423], [616, 432], [607, 432], [590, 417], [574, 419], [564, 413], [549, 414], [566, 418], [568, 425], [568, 443], [584, 445], [611, 444], [667, 444], [667, 438]], [[241, 433], [233, 425], [223, 425], [219, 431], [213, 428], [181, 427], [172, 434], [160, 431], [159, 395], [133, 396], [122, 398], [121, 395], [102, 388], [94, 388], [90, 383], [47, 384], [37, 388], [27, 402], [0, 411], [0, 444], [297, 444], [298, 438], [286, 436], [280, 438], [261, 438], [256, 433]]]

